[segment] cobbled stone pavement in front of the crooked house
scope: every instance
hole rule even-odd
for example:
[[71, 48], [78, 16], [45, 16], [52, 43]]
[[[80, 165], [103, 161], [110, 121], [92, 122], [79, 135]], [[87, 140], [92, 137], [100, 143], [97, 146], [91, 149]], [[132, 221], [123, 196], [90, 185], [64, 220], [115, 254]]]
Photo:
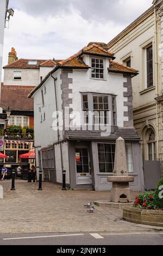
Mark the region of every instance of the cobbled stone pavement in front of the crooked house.
[[[122, 220], [121, 209], [95, 206], [89, 214], [84, 204], [106, 200], [110, 192], [61, 191], [59, 185], [16, 180], [16, 191], [10, 191], [11, 180], [1, 181], [4, 199], [0, 199], [0, 233], [57, 233], [99, 231], [143, 231], [149, 226]], [[134, 196], [134, 193], [133, 193]]]

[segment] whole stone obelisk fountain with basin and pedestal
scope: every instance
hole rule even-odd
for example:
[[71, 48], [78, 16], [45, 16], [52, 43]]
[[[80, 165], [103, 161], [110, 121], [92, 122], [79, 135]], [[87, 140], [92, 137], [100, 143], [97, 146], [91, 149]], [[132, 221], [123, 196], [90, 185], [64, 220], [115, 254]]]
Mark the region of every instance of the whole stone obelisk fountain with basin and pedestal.
[[114, 172], [108, 181], [112, 182], [111, 202], [131, 202], [129, 182], [133, 182], [134, 177], [128, 176], [126, 147], [121, 137], [116, 140]]

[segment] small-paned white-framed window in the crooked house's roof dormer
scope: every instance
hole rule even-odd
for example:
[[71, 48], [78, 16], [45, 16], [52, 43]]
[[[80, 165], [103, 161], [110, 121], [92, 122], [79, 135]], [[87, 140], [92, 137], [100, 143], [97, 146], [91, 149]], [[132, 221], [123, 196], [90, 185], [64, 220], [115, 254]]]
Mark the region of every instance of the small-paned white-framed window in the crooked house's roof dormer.
[[91, 58], [91, 78], [104, 79], [104, 60]]

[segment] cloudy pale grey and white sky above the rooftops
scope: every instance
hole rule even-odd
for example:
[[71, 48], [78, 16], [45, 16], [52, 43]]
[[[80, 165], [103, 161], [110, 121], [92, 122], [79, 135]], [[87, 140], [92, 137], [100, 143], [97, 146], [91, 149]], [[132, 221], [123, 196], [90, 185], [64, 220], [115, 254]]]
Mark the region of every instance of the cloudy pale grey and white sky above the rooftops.
[[18, 58], [64, 59], [90, 41], [109, 42], [152, 5], [152, 0], [9, 0], [3, 65]]

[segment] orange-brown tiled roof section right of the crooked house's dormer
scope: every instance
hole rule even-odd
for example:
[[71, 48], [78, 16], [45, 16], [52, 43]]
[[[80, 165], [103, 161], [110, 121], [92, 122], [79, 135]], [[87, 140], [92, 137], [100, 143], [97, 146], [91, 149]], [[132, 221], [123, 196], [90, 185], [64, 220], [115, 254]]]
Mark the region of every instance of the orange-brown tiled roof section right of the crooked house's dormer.
[[118, 72], [118, 73], [129, 73], [129, 74], [138, 74], [136, 69], [129, 68], [129, 66], [123, 66], [120, 63], [114, 62], [114, 60], [110, 60], [110, 67], [108, 68], [110, 72]]

